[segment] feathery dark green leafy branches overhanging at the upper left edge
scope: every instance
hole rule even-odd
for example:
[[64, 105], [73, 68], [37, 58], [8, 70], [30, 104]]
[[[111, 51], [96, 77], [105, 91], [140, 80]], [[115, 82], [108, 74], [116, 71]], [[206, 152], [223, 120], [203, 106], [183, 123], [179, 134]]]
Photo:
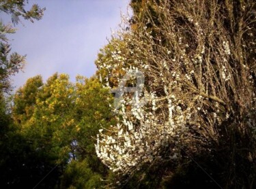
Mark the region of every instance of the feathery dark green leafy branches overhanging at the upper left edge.
[[[25, 10], [26, 1], [8, 1], [0, 2], [0, 11], [10, 14], [12, 16], [12, 23], [18, 24], [20, 17], [25, 20], [33, 22], [33, 20], [40, 20], [43, 16], [45, 8], [40, 8], [38, 5], [32, 5], [31, 9]], [[0, 21], [0, 90], [10, 92], [10, 76], [18, 73], [23, 68], [25, 63], [25, 56], [11, 52], [11, 46], [7, 34], [15, 33], [16, 29], [10, 24], [3, 24]]]

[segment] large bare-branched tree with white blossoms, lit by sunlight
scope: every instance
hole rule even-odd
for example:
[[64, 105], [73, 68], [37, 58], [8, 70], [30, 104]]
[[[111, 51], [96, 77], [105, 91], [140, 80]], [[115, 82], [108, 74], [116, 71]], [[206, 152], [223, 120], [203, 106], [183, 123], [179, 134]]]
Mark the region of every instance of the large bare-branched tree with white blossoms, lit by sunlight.
[[[118, 123], [100, 130], [98, 157], [127, 175], [145, 162], [178, 160], [182, 151], [210, 153], [226, 139], [229, 150], [243, 148], [250, 137], [250, 150], [241, 156], [253, 162], [255, 3], [162, 0], [140, 6], [96, 61], [102, 84], [121, 91], [113, 106]], [[138, 86], [140, 73], [145, 82]], [[128, 87], [141, 90], [125, 92]]]

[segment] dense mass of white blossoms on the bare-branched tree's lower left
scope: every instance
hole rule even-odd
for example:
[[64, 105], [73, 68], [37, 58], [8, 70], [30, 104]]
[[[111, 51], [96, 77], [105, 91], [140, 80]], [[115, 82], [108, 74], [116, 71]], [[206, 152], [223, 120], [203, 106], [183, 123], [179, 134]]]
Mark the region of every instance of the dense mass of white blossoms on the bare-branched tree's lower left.
[[[163, 63], [167, 67], [166, 63]], [[126, 71], [135, 67], [130, 67]], [[161, 146], [184, 129], [184, 115], [175, 106], [175, 96], [169, 95], [165, 86], [165, 100], [168, 102], [169, 116], [165, 121], [159, 118], [158, 97], [155, 92], [143, 89], [143, 98], [134, 92], [135, 103], [130, 94], [123, 95], [117, 110], [119, 122], [105, 135], [102, 130], [97, 135], [96, 153], [111, 170], [129, 173], [143, 162], [151, 162], [158, 155]], [[147, 104], [141, 105], [142, 99]], [[176, 124], [173, 119], [176, 118]], [[107, 131], [109, 132], [109, 131]]]

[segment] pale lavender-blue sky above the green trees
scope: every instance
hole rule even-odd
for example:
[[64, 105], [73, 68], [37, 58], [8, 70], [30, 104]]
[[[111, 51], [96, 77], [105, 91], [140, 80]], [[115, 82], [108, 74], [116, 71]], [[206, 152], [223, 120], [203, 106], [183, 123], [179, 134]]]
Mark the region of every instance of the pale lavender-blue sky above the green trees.
[[[44, 81], [53, 73], [91, 77], [100, 48], [118, 29], [121, 13], [126, 14], [130, 0], [38, 0], [29, 1], [46, 7], [42, 20], [18, 24], [9, 35], [12, 51], [27, 55], [24, 72], [12, 77], [13, 86], [23, 86], [28, 78], [42, 75]], [[10, 15], [0, 14], [6, 24]]]

